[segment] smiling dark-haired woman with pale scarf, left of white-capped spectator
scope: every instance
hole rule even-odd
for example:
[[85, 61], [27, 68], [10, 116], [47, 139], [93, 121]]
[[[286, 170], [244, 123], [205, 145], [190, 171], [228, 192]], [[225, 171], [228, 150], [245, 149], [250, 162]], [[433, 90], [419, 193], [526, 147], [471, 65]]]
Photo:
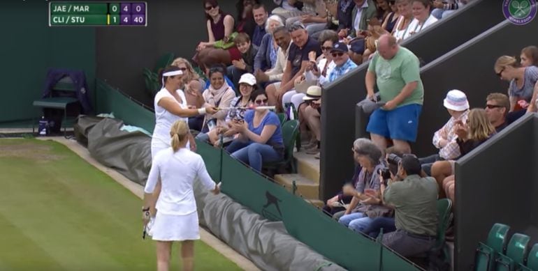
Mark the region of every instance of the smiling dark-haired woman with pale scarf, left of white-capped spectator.
[[[235, 91], [224, 81], [224, 74], [225, 69], [219, 65], [210, 69], [210, 86], [202, 94], [206, 106], [230, 107], [231, 101], [235, 98]], [[226, 125], [227, 114], [228, 110], [219, 110], [215, 114], [206, 113], [201, 132], [210, 132], [217, 126]]]

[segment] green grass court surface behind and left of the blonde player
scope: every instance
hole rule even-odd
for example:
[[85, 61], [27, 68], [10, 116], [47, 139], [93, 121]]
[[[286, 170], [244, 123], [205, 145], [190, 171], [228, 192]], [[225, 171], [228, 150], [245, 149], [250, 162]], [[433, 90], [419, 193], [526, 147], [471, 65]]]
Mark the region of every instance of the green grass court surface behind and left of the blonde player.
[[[65, 146], [0, 140], [0, 270], [155, 270], [142, 201]], [[240, 270], [197, 241], [196, 270]], [[179, 270], [179, 246], [172, 270]]]

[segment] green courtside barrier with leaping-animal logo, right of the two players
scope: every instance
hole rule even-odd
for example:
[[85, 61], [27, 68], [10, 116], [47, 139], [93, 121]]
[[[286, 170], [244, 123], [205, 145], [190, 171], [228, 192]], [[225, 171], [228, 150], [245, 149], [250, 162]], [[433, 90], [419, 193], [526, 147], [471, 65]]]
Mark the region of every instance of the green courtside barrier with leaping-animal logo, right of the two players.
[[420, 270], [379, 242], [338, 224], [228, 154], [224, 153], [221, 160], [219, 149], [198, 142], [197, 152], [212, 178], [222, 182], [222, 192], [266, 219], [282, 221], [290, 235], [330, 261], [348, 270]]

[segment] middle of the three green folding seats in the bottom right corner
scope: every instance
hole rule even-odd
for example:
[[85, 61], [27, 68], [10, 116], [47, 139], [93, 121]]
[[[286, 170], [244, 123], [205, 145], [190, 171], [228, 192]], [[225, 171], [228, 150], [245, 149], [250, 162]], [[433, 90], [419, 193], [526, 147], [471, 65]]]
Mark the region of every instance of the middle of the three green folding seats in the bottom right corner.
[[528, 252], [530, 237], [521, 233], [514, 233], [507, 246], [506, 254], [498, 254], [497, 271], [513, 271], [519, 265], [523, 265]]

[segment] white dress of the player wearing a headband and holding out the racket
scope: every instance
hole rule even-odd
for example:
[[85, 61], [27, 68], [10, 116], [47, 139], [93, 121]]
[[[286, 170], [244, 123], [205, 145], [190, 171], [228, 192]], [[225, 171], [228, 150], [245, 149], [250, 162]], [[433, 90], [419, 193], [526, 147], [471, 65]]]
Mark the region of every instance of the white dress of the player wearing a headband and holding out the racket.
[[[175, 123], [175, 121], [185, 121], [187, 124], [189, 123], [189, 118], [184, 118], [180, 116], [176, 116], [164, 109], [163, 107], [159, 107], [159, 101], [162, 98], [172, 98], [177, 102], [177, 104], [180, 105], [182, 109], [189, 108], [187, 106], [187, 99], [185, 98], [185, 94], [181, 89], [178, 89], [177, 95], [180, 96], [182, 102], [178, 102], [175, 100], [174, 96], [166, 90], [166, 88], [162, 88], [157, 95], [155, 95], [154, 99], [154, 109], [155, 109], [155, 128], [153, 130], [153, 136], [152, 136], [152, 158], [159, 153], [159, 150], [163, 150], [165, 148], [170, 147], [170, 127], [172, 127], [172, 124]], [[189, 143], [187, 142], [187, 148], [189, 148]]]

